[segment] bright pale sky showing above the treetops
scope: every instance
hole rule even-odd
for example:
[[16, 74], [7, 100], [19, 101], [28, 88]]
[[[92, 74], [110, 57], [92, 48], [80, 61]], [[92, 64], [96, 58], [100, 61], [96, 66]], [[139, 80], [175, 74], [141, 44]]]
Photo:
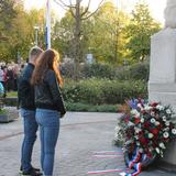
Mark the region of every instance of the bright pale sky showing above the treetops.
[[[64, 2], [69, 2], [69, 0], [63, 0]], [[85, 4], [87, 4], [88, 0], [82, 0]], [[114, 2], [116, 6], [122, 7], [127, 12], [130, 12], [134, 4], [139, 0], [111, 0]], [[145, 1], [151, 9], [152, 16], [156, 19], [157, 21], [161, 21], [164, 23], [164, 9], [166, 6], [166, 0], [142, 0]], [[58, 4], [54, 2], [54, 0], [51, 0], [52, 10], [58, 15], [58, 18], [62, 18], [64, 15], [64, 10]], [[90, 9], [94, 10], [97, 8], [100, 0], [91, 0]], [[24, 7], [26, 10], [30, 10], [32, 8], [44, 8], [46, 3], [46, 0], [24, 0]]]

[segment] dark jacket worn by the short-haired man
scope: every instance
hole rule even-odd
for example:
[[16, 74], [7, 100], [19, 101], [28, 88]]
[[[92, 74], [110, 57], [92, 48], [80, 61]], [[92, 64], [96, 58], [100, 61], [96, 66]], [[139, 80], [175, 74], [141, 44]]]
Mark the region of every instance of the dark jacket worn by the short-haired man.
[[35, 110], [34, 88], [30, 84], [33, 70], [34, 65], [29, 63], [20, 76], [18, 86], [18, 107], [28, 110]]

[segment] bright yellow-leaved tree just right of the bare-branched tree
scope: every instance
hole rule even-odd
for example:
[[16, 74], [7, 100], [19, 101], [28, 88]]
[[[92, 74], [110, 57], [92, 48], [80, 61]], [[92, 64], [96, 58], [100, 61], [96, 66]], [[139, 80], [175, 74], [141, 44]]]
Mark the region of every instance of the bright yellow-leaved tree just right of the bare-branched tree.
[[112, 2], [105, 2], [92, 20], [89, 45], [97, 61], [122, 64], [127, 55], [124, 29], [129, 23], [128, 14], [120, 11]]

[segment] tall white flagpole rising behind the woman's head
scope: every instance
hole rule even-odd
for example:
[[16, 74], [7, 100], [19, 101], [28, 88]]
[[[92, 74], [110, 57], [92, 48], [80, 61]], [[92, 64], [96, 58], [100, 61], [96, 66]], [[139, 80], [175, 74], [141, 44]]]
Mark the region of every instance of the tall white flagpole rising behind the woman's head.
[[46, 1], [46, 48], [51, 48], [51, 0]]

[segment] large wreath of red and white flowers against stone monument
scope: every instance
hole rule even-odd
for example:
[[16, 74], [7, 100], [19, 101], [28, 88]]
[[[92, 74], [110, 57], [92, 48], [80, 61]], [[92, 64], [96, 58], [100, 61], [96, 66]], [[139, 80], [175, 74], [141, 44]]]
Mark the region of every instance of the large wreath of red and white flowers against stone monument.
[[170, 107], [164, 107], [160, 102], [150, 103], [143, 99], [132, 99], [127, 101], [123, 110], [125, 113], [116, 128], [114, 141], [123, 143], [127, 152], [130, 142], [148, 158], [163, 157], [166, 144], [176, 139], [175, 118]]

